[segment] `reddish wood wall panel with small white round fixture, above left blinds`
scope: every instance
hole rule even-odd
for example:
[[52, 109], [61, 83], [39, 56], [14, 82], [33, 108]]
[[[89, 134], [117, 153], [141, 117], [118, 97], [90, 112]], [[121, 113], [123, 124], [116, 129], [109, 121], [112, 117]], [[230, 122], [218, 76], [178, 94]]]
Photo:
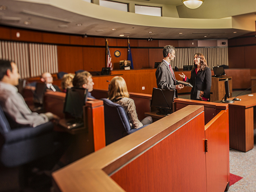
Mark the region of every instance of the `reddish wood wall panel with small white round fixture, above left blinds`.
[[[42, 32], [28, 31], [22, 29], [11, 29], [11, 40], [14, 41], [29, 41], [29, 42], [42, 42]], [[17, 38], [17, 32], [20, 33], [20, 37]]]

